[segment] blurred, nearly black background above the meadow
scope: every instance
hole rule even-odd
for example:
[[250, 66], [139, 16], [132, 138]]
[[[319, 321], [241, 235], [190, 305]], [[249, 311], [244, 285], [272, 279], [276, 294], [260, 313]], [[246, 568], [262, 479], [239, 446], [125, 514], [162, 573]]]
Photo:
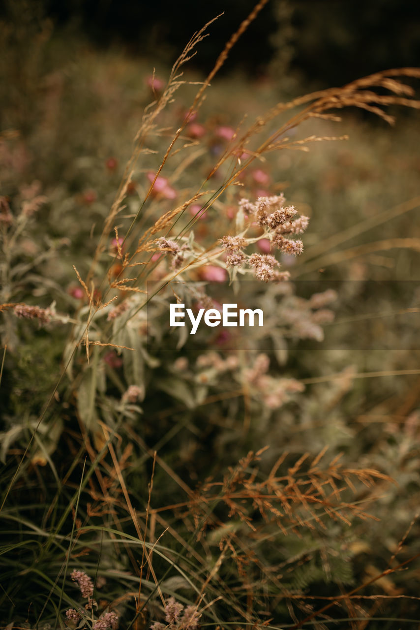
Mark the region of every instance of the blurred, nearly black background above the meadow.
[[[3, 0], [6, 21], [25, 20], [25, 0]], [[173, 62], [194, 31], [224, 11], [201, 42], [193, 64], [213, 66], [254, 0], [26, 0], [29, 13], [54, 22], [56, 33], [99, 47]], [[320, 86], [343, 84], [389, 67], [420, 63], [420, 3], [414, 0], [271, 0], [236, 45], [224, 72], [298, 73]]]

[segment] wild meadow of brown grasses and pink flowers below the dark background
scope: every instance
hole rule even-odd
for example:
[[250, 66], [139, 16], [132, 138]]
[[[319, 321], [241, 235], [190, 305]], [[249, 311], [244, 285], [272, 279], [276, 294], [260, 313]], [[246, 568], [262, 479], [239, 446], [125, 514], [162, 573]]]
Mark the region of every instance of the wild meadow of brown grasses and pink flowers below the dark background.
[[420, 71], [48, 28], [0, 69], [0, 627], [420, 627]]

